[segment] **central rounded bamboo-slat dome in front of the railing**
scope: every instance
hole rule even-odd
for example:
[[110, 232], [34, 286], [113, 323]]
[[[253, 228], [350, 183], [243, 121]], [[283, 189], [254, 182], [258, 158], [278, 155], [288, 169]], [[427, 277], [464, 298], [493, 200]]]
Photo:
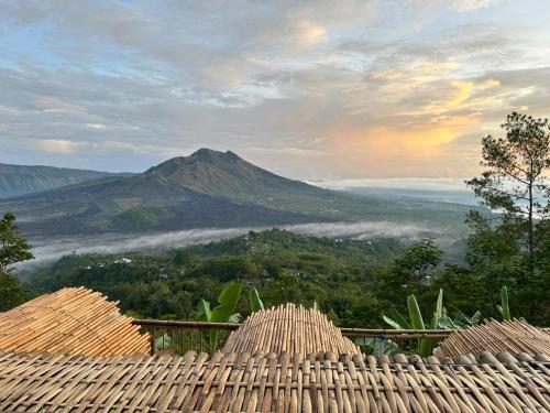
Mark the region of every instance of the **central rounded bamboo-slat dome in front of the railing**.
[[237, 332], [231, 333], [222, 351], [360, 354], [358, 346], [343, 337], [324, 314], [290, 303], [253, 313]]

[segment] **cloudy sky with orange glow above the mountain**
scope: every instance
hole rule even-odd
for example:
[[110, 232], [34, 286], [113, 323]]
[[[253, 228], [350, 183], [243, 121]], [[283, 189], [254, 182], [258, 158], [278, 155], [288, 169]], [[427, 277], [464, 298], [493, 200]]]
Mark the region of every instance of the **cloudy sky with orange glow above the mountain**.
[[0, 162], [199, 148], [310, 182], [476, 175], [550, 115], [550, 1], [0, 0]]

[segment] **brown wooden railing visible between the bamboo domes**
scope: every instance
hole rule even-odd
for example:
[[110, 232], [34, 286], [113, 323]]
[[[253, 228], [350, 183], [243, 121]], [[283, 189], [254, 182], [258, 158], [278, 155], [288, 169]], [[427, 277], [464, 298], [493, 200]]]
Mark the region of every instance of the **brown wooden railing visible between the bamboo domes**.
[[[240, 324], [228, 323], [165, 319], [135, 319], [133, 324], [141, 326], [144, 333], [151, 334], [152, 352], [167, 350], [178, 355], [189, 350], [216, 352], [223, 347], [229, 334], [241, 326]], [[345, 327], [340, 329], [345, 337], [353, 340], [367, 355], [381, 355], [392, 350], [414, 354], [418, 348], [419, 339], [429, 338], [439, 341], [451, 333], [443, 329], [414, 330]]]

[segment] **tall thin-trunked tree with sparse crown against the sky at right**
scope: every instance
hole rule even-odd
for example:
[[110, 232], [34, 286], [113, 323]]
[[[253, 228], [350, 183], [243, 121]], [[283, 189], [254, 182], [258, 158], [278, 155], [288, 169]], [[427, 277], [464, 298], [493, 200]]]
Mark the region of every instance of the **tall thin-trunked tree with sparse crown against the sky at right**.
[[[544, 172], [550, 167], [550, 128], [548, 119], [513, 112], [502, 124], [505, 138], [483, 138], [481, 176], [466, 181], [488, 208], [515, 219], [526, 233], [528, 270], [535, 274], [536, 220], [550, 214], [550, 186]], [[544, 203], [546, 198], [546, 203]]]

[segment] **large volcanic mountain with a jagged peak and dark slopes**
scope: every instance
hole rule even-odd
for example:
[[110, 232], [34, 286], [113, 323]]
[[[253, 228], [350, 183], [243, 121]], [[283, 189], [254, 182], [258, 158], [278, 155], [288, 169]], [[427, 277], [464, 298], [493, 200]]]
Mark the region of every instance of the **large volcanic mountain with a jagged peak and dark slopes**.
[[394, 221], [463, 230], [466, 207], [322, 189], [233, 152], [201, 149], [130, 177], [103, 177], [0, 202], [28, 235], [143, 232], [318, 221]]

